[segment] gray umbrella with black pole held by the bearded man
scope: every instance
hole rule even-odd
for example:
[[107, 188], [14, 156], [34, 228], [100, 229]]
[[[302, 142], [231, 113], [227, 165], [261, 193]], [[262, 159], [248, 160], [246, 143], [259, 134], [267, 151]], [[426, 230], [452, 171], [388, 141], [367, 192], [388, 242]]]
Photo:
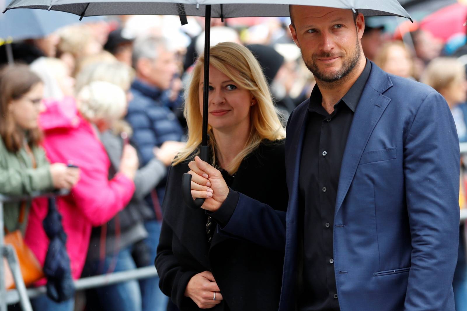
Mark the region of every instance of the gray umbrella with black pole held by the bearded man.
[[[182, 24], [186, 16], [205, 16], [204, 85], [209, 84], [209, 41], [211, 17], [290, 16], [289, 5], [335, 7], [359, 12], [365, 16], [391, 15], [410, 19], [410, 15], [397, 0], [12, 0], [5, 13], [13, 8], [35, 8], [64, 11], [84, 16], [158, 14], [178, 15]], [[410, 19], [411, 20], [411, 19]], [[208, 88], [203, 91], [203, 136], [200, 157], [209, 158], [207, 115]], [[182, 195], [185, 203], [198, 208], [204, 199], [191, 198], [191, 175], [184, 174]]]

